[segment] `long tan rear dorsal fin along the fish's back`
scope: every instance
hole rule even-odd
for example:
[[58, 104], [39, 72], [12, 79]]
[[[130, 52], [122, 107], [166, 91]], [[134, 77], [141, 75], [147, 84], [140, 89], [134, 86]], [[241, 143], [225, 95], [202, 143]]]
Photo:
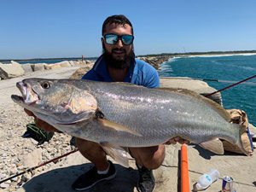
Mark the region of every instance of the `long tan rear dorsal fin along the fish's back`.
[[221, 117], [223, 117], [226, 121], [230, 122], [230, 113], [228, 113], [221, 105], [217, 102], [213, 102], [211, 99], [201, 96], [200, 94], [196, 93], [193, 90], [186, 90], [180, 88], [159, 88], [160, 90], [172, 91], [176, 92], [177, 94], [182, 94], [186, 96], [194, 97], [195, 99], [200, 100], [201, 102], [207, 103], [207, 105], [211, 106]]

